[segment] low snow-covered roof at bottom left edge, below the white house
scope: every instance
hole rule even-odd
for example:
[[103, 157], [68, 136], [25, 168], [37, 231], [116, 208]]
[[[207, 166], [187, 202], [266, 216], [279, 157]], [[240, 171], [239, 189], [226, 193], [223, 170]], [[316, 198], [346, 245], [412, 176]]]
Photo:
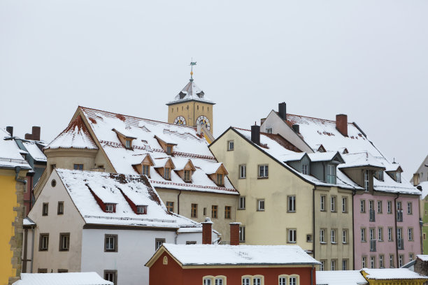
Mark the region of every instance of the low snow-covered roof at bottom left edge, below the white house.
[[21, 273], [21, 279], [13, 285], [113, 285], [113, 282], [102, 279], [97, 272]]

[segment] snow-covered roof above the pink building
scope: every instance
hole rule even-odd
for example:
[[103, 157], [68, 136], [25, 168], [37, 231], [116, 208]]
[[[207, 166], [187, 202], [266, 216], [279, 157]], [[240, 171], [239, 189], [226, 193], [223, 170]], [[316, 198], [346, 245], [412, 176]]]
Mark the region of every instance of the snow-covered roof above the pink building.
[[[336, 129], [336, 121], [329, 119], [287, 114], [287, 124], [299, 124], [299, 135], [314, 149], [322, 145], [327, 152], [343, 152], [346, 148], [348, 154], [342, 155], [345, 164], [339, 165], [338, 168], [375, 166], [385, 168], [386, 171], [398, 169], [397, 164], [390, 163], [355, 123], [348, 123], [348, 136], [343, 136]], [[384, 181], [375, 178], [373, 184], [375, 191], [416, 195], [420, 193], [404, 178], [400, 183], [392, 180], [386, 173], [383, 176]]]

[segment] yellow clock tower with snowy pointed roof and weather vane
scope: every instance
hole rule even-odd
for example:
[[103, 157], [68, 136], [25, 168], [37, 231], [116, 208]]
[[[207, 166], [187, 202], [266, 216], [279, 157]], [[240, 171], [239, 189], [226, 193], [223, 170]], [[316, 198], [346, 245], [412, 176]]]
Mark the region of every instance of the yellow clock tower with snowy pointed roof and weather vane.
[[185, 126], [204, 125], [213, 133], [213, 106], [214, 102], [208, 99], [204, 92], [194, 84], [193, 66], [191, 62], [190, 81], [178, 93], [173, 101], [166, 103], [168, 106], [168, 122]]

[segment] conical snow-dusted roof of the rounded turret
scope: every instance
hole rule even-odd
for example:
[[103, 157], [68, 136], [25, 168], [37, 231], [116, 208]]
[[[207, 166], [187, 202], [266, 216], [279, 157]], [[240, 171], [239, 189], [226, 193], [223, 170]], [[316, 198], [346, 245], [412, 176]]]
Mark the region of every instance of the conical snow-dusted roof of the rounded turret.
[[80, 116], [76, 117], [55, 140], [45, 147], [45, 149], [58, 148], [98, 149]]

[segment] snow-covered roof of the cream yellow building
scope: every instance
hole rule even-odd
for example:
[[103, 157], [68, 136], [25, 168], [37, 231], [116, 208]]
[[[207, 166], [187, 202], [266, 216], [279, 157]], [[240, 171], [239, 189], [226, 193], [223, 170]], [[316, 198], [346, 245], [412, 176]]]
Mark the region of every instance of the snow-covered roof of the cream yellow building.
[[[308, 182], [311, 182], [318, 186], [337, 186], [345, 189], [362, 189], [362, 187], [359, 187], [358, 184], [350, 180], [348, 176], [343, 174], [340, 170], [337, 170], [336, 176], [336, 184], [329, 184], [327, 182], [322, 182], [321, 180], [318, 180], [316, 177], [313, 177], [311, 175], [305, 175], [303, 173], [300, 173], [299, 171], [295, 170], [291, 166], [287, 165], [287, 161], [295, 161], [299, 157], [303, 157], [305, 152], [294, 152], [290, 149], [285, 148], [283, 145], [280, 145], [276, 140], [271, 139], [270, 137], [272, 135], [266, 136], [264, 133], [260, 133], [260, 145], [263, 145], [264, 147], [261, 147], [259, 145], [256, 145], [255, 143], [251, 142], [251, 131], [244, 130], [244, 129], [238, 129], [234, 128], [235, 131], [238, 133], [241, 133], [242, 136], [248, 139], [250, 143], [255, 145], [255, 147], [258, 147], [262, 151], [266, 152], [267, 154], [273, 156], [273, 158], [280, 161], [280, 163], [283, 164], [286, 168], [288, 168], [290, 171], [294, 172], [296, 175], [299, 175], [300, 177], [304, 178], [304, 180], [307, 180]], [[278, 136], [278, 135], [277, 135]], [[326, 154], [326, 153], [319, 153], [320, 156], [322, 156], [322, 159], [328, 159], [331, 157], [331, 159], [334, 157], [334, 155], [337, 154], [337, 152], [334, 152], [333, 154]], [[312, 154], [308, 154], [312, 155]], [[289, 159], [289, 160], [287, 160]], [[321, 159], [318, 158], [317, 159]]]

